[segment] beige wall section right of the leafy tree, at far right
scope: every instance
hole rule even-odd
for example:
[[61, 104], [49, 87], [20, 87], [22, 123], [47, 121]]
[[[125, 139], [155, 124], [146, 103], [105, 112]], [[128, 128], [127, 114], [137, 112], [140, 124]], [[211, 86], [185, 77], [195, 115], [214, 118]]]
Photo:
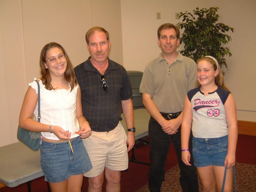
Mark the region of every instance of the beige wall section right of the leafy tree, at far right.
[[228, 44], [233, 54], [227, 58], [225, 81], [236, 100], [239, 120], [256, 121], [256, 1], [223, 1], [225, 23], [235, 28]]

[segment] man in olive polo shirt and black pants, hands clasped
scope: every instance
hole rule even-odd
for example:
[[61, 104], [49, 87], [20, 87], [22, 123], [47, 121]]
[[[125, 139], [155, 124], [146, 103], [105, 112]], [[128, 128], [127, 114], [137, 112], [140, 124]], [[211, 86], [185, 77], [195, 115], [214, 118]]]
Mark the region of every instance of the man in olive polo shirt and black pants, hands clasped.
[[[145, 68], [140, 92], [143, 104], [151, 117], [148, 125], [150, 138], [150, 169], [148, 185], [151, 192], [160, 192], [164, 181], [164, 166], [173, 141], [180, 167], [180, 185], [184, 192], [198, 191], [194, 159], [192, 166], [181, 160], [181, 120], [187, 92], [195, 87], [196, 63], [177, 52], [180, 31], [177, 26], [165, 23], [158, 28], [158, 45], [162, 53]], [[192, 134], [189, 150], [192, 154]]]

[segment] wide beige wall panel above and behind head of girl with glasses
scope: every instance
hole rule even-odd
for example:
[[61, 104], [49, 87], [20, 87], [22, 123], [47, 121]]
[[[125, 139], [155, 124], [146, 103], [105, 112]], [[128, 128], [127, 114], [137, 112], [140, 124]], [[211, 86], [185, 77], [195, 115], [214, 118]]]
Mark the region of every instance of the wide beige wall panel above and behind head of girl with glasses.
[[74, 66], [88, 57], [84, 31], [91, 26], [89, 0], [23, 0], [22, 9], [28, 82], [40, 76], [40, 52], [49, 42], [61, 44]]

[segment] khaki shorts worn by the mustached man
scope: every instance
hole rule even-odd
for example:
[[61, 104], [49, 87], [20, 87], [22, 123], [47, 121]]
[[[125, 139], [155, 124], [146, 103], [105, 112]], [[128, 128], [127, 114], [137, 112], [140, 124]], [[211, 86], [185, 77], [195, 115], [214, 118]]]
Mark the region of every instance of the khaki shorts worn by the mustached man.
[[92, 169], [84, 173], [85, 177], [96, 177], [104, 171], [104, 167], [114, 171], [128, 168], [127, 136], [119, 122], [109, 132], [92, 131], [90, 137], [84, 139], [84, 147], [92, 162]]

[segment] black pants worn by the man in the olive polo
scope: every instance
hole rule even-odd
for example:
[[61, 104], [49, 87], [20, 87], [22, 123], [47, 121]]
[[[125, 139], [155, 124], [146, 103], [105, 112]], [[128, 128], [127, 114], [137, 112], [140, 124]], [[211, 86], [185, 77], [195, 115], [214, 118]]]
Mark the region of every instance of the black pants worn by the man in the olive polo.
[[148, 135], [150, 138], [148, 185], [150, 192], [161, 191], [162, 182], [164, 181], [164, 166], [171, 141], [173, 141], [178, 157], [180, 185], [183, 192], [198, 192], [197, 172], [192, 155], [192, 133], [189, 138], [189, 152], [191, 154], [190, 164], [192, 164], [192, 166], [188, 166], [181, 160], [180, 129], [181, 127], [179, 127], [176, 134], [168, 135], [162, 130], [161, 125], [158, 124], [153, 117], [150, 117], [148, 124]]

